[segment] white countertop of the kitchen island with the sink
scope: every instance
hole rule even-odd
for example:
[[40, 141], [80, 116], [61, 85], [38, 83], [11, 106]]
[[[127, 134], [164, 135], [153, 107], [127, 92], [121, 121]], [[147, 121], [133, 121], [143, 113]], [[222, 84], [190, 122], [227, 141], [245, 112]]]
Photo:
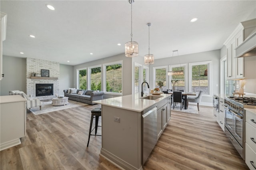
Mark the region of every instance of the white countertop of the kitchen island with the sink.
[[152, 95], [152, 96], [162, 96], [162, 97], [156, 100], [140, 99], [140, 93], [136, 93], [133, 95], [126, 95], [126, 96], [93, 101], [93, 103], [117, 107], [117, 108], [126, 109], [130, 111], [141, 112], [147, 109], [148, 107], [158, 103], [162, 99], [170, 96], [170, 94], [161, 94], [161, 95]]

